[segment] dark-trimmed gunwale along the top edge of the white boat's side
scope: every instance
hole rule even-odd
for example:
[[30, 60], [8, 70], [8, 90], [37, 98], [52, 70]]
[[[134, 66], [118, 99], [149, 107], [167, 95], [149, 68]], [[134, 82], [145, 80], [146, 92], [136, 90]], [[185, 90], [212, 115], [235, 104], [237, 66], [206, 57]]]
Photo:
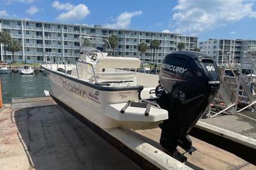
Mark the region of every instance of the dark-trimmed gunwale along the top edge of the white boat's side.
[[74, 78], [73, 76], [65, 75], [64, 73], [60, 73], [60, 72], [48, 69], [47, 67], [44, 67], [42, 65], [41, 65], [41, 67], [43, 67], [43, 69], [46, 69], [49, 72], [55, 73], [56, 75], [64, 76], [65, 78], [70, 79], [71, 81], [78, 82], [80, 84], [89, 86], [89, 87], [94, 88], [94, 89], [98, 89], [100, 91], [142, 91], [142, 89], [143, 89], [142, 85], [126, 86], [126, 87], [99, 86], [99, 85], [95, 85], [95, 84], [91, 84], [89, 82], [86, 82], [83, 79]]

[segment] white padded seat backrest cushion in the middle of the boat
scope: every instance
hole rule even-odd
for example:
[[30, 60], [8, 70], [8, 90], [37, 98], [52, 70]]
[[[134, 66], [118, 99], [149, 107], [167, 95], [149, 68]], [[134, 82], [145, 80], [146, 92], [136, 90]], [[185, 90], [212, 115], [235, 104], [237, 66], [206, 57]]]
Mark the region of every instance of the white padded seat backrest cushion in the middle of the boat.
[[101, 57], [95, 64], [97, 69], [138, 69], [140, 60], [132, 57]]

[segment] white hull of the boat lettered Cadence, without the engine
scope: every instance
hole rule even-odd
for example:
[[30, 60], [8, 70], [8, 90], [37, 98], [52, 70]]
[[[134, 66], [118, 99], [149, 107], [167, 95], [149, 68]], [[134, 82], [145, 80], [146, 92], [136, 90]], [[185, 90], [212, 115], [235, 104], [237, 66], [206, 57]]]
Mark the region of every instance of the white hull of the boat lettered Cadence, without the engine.
[[[143, 121], [119, 121], [112, 119], [106, 116], [106, 108], [110, 104], [138, 100], [138, 89], [129, 89], [129, 91], [95, 89], [73, 76], [52, 71], [46, 67], [44, 67], [44, 70], [47, 76], [49, 76], [53, 97], [101, 128], [152, 129], [157, 128], [162, 120], [168, 119], [166, 110], [164, 118], [161, 117], [161, 120], [155, 120], [155, 122], [152, 122], [152, 117], [150, 116], [144, 116]], [[122, 113], [119, 112], [118, 114]]]

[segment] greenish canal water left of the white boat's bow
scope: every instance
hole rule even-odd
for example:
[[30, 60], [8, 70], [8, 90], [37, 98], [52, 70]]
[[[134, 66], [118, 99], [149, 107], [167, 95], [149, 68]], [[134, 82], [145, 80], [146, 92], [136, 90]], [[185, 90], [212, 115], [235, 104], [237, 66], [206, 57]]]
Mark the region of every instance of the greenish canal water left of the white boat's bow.
[[0, 75], [2, 82], [3, 103], [11, 103], [11, 98], [45, 96], [44, 90], [50, 91], [50, 82], [46, 75], [19, 75], [12, 73]]

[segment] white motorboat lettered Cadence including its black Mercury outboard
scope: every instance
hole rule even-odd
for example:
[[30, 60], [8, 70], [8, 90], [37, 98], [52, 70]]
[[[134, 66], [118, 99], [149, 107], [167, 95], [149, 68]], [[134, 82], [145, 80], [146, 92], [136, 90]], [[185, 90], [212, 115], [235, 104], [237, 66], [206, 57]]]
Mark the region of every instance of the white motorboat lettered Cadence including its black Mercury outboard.
[[[81, 45], [85, 38], [95, 39], [80, 37]], [[219, 88], [213, 58], [201, 52], [173, 52], [164, 58], [159, 75], [152, 75], [131, 71], [140, 68], [138, 58], [110, 57], [92, 45], [89, 50], [80, 47], [73, 64], [64, 57], [53, 60], [52, 53], [44, 57], [50, 61], [41, 65], [50, 80], [50, 95], [64, 109], [103, 129], [160, 127], [161, 146], [181, 162], [186, 157], [177, 146], [185, 153], [196, 150], [188, 132]]]

